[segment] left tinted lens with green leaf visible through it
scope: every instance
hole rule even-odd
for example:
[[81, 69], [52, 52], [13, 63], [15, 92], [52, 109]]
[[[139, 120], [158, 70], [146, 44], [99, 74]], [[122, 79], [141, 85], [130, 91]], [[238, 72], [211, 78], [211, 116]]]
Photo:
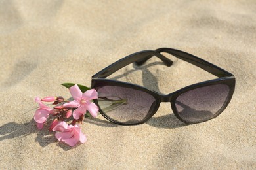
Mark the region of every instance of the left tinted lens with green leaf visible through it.
[[140, 122], [156, 105], [152, 95], [140, 90], [119, 86], [102, 86], [96, 90], [100, 109], [117, 122]]

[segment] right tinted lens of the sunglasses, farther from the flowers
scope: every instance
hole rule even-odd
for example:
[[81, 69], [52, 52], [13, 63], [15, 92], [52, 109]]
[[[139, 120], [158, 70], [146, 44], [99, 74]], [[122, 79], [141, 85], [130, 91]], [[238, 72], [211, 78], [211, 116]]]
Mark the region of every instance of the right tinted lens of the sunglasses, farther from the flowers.
[[175, 101], [179, 116], [191, 123], [211, 119], [223, 107], [229, 93], [226, 84], [204, 86], [184, 92]]

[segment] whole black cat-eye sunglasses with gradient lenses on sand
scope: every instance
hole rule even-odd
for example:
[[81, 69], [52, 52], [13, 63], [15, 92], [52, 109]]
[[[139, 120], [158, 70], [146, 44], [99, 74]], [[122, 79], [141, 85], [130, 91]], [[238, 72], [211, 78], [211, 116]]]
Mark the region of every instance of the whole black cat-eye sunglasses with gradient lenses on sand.
[[[161, 59], [166, 66], [171, 66], [173, 61], [163, 56], [162, 52], [192, 63], [218, 78], [192, 84], [167, 95], [137, 84], [106, 79], [130, 63], [142, 65], [152, 56]], [[236, 78], [232, 73], [208, 61], [181, 50], [159, 48], [119, 59], [93, 75], [91, 88], [98, 92], [98, 99], [94, 102], [100, 113], [114, 124], [142, 124], [157, 112], [161, 102], [170, 102], [173, 113], [182, 122], [196, 124], [215, 118], [226, 109], [234, 93], [235, 83]]]

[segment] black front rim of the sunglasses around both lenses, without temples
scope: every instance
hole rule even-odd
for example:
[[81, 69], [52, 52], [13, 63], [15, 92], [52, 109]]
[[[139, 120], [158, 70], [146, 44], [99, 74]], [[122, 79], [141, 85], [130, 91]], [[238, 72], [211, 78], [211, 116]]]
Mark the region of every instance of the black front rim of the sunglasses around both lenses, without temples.
[[[200, 122], [205, 122], [207, 120], [211, 120], [213, 118], [216, 118], [217, 116], [219, 116], [219, 114], [221, 114], [221, 112], [223, 112], [224, 109], [226, 109], [226, 107], [228, 106], [228, 103], [230, 103], [230, 101], [232, 99], [236, 79], [235, 79], [234, 76], [228, 76], [228, 77], [223, 77], [223, 78], [216, 78], [216, 79], [213, 79], [213, 80], [207, 80], [207, 81], [204, 81], [204, 82], [199, 82], [199, 83], [196, 83], [196, 84], [192, 84], [190, 86], [186, 86], [184, 88], [181, 88], [180, 90], [169, 93], [167, 95], [160, 94], [158, 92], [155, 92], [154, 90], [150, 90], [150, 89], [148, 89], [144, 86], [140, 86], [138, 84], [132, 84], [132, 83], [129, 83], [129, 82], [122, 82], [122, 81], [119, 81], [119, 80], [111, 80], [111, 79], [106, 79], [106, 78], [92, 78], [91, 88], [95, 88], [95, 86], [97, 86], [100, 82], [103, 83], [101, 86], [108, 86], [108, 85], [110, 85], [110, 86], [121, 86], [121, 87], [125, 87], [125, 88], [132, 88], [132, 89], [135, 89], [135, 90], [140, 90], [142, 92], [146, 92], [146, 93], [152, 95], [152, 97], [154, 97], [154, 99], [156, 100], [156, 105], [154, 107], [154, 110], [152, 110], [152, 112], [148, 112], [143, 120], [141, 120], [140, 122], [135, 122], [135, 123], [125, 123], [125, 122], [119, 122], [117, 120], [114, 120], [114, 119], [110, 118], [100, 108], [100, 106], [98, 105], [98, 100], [94, 99], [95, 104], [99, 108], [100, 114], [102, 114], [102, 116], [104, 116], [104, 118], [106, 118], [110, 122], [113, 122], [114, 124], [119, 124], [119, 125], [143, 124], [146, 121], [148, 121], [150, 118], [152, 118], [152, 116], [154, 116], [154, 114], [156, 114], [158, 108], [160, 107], [161, 102], [170, 102], [173, 114], [175, 114], [175, 116], [179, 120], [181, 120], [182, 122], [184, 122], [186, 124], [197, 124], [197, 123], [200, 123]], [[179, 95], [181, 95], [182, 93], [188, 92], [190, 90], [194, 90], [196, 88], [200, 88], [200, 87], [203, 87], [203, 86], [211, 86], [211, 85], [215, 85], [215, 84], [226, 84], [229, 87], [228, 97], [227, 97], [226, 101], [223, 103], [223, 106], [221, 107], [221, 109], [217, 113], [215, 113], [211, 118], [207, 118], [205, 120], [198, 121], [198, 122], [188, 122], [188, 121], [182, 119], [181, 116], [179, 116], [179, 112], [177, 111], [177, 108], [175, 106], [175, 101], [176, 101], [177, 97], [179, 97]]]

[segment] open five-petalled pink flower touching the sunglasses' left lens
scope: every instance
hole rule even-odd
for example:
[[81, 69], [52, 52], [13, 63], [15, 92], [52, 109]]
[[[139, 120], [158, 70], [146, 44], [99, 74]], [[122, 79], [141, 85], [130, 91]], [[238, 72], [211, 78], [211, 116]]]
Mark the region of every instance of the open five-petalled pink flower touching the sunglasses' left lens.
[[65, 103], [64, 107], [77, 107], [73, 112], [73, 117], [79, 119], [81, 115], [84, 115], [88, 110], [93, 117], [97, 116], [98, 107], [95, 103], [91, 102], [93, 99], [98, 98], [98, 92], [95, 89], [87, 90], [85, 93], [82, 93], [77, 84], [70, 87], [70, 93], [74, 98], [74, 101]]

